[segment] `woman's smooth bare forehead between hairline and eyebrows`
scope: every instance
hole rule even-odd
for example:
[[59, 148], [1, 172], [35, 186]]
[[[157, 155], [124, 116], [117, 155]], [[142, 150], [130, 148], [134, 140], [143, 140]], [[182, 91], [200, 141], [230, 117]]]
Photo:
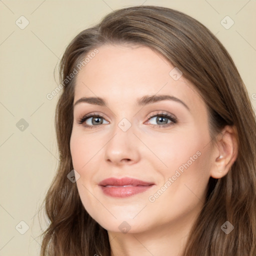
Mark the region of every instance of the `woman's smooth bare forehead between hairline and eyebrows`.
[[182, 76], [173, 79], [170, 72], [174, 66], [149, 47], [118, 44], [97, 50], [77, 74], [74, 101], [97, 96], [128, 103], [157, 93], [182, 98], [195, 107], [203, 103], [193, 85]]

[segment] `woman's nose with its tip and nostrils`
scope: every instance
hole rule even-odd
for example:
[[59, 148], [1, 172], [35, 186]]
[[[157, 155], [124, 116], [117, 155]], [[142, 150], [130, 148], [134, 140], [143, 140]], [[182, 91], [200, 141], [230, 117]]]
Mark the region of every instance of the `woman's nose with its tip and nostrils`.
[[117, 125], [105, 145], [105, 160], [111, 164], [133, 164], [139, 161], [139, 140], [133, 134], [132, 126], [121, 130]]

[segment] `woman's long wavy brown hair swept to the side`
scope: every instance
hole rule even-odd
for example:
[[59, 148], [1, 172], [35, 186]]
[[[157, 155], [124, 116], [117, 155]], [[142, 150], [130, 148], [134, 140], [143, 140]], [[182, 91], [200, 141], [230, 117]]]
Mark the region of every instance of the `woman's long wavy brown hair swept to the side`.
[[[212, 143], [225, 126], [237, 130], [238, 155], [228, 173], [210, 178], [203, 208], [184, 256], [256, 255], [256, 122], [244, 83], [226, 49], [200, 22], [165, 7], [133, 6], [115, 10], [81, 31], [60, 61], [60, 77], [102, 44], [135, 43], [150, 47], [178, 67], [204, 99]], [[85, 63], [84, 63], [85, 64]], [[75, 183], [69, 140], [73, 122], [75, 77], [65, 82], [55, 112], [59, 166], [44, 200], [49, 220], [42, 233], [41, 256], [110, 255], [107, 231], [84, 209]], [[234, 229], [225, 234], [228, 220]]]

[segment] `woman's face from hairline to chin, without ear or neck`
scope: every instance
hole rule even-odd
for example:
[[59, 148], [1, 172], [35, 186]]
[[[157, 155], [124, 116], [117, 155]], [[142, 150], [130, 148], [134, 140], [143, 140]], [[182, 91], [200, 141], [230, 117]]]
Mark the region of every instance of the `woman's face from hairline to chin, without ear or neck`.
[[190, 224], [211, 169], [205, 103], [150, 48], [97, 49], [76, 76], [70, 138], [85, 209], [112, 232]]

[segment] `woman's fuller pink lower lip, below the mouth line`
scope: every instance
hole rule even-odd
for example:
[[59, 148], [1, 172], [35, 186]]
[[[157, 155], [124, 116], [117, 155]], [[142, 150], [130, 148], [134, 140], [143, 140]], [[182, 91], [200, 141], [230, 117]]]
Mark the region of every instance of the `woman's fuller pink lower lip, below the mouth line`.
[[107, 186], [100, 186], [103, 190], [104, 194], [112, 196], [112, 197], [128, 197], [134, 194], [142, 193], [152, 187], [153, 185], [147, 186], [119, 186], [119, 187], [107, 187]]

